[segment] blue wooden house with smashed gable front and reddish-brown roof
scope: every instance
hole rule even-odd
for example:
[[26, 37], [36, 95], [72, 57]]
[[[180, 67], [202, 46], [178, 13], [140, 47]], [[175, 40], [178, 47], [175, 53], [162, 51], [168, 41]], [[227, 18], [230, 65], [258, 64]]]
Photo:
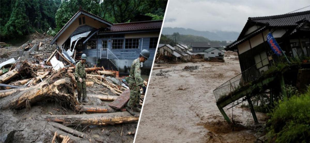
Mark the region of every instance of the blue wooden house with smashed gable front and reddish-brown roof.
[[118, 69], [127, 73], [133, 60], [146, 49], [150, 57], [143, 63], [151, 68], [162, 20], [112, 24], [87, 11], [79, 10], [51, 41], [71, 56], [71, 61], [83, 53], [87, 62]]

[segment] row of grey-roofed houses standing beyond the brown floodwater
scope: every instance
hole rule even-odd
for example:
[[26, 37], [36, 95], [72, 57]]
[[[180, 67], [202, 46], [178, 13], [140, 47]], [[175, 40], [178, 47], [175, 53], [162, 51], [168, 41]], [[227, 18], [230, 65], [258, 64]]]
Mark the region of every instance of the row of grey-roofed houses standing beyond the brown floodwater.
[[190, 60], [193, 57], [223, 59], [224, 57], [224, 51], [219, 49], [218, 42], [193, 42], [191, 47], [192, 50], [189, 50], [184, 44], [176, 44], [173, 47], [169, 44], [159, 44], [158, 53], [160, 55], [172, 56], [175, 60]]

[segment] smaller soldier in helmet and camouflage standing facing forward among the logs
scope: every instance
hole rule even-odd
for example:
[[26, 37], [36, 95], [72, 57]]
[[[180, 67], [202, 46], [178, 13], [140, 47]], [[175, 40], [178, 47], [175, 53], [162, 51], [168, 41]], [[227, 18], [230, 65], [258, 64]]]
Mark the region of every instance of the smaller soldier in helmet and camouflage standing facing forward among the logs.
[[[82, 60], [80, 60], [76, 65], [75, 65], [75, 72], [74, 72], [74, 76], [75, 79], [77, 80], [77, 90], [78, 90], [78, 101], [80, 103], [83, 102], [88, 102], [88, 100], [86, 99], [87, 94], [86, 94], [86, 72], [85, 72], [85, 66], [84, 63], [86, 62], [87, 56], [86, 54], [82, 54]], [[83, 100], [81, 98], [83, 94]]]

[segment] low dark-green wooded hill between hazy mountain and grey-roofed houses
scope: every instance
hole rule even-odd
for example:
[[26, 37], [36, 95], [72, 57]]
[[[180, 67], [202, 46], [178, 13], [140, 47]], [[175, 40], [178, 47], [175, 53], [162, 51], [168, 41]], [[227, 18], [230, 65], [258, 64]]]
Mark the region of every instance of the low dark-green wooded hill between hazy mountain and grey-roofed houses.
[[226, 41], [212, 41], [208, 38], [202, 36], [195, 36], [195, 35], [182, 35], [179, 33], [173, 33], [172, 35], [163, 35], [160, 38], [159, 43], [161, 44], [169, 44], [175, 45], [179, 43], [186, 44], [190, 47], [192, 42], [219, 42], [220, 45], [226, 46]]

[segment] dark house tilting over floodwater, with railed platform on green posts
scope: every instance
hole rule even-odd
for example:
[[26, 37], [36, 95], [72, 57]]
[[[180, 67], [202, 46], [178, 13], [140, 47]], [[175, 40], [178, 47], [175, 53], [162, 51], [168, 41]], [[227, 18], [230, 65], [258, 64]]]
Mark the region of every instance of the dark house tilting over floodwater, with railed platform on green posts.
[[[280, 94], [286, 95], [286, 84], [299, 91], [310, 84], [309, 20], [310, 11], [249, 17], [237, 40], [226, 47], [227, 51], [237, 51], [242, 73], [213, 91], [216, 104], [228, 122], [231, 121], [223, 108], [233, 102], [232, 107], [248, 101], [254, 121], [258, 122], [251, 97], [268, 94], [272, 106]], [[277, 52], [271, 36], [281, 47]]]

